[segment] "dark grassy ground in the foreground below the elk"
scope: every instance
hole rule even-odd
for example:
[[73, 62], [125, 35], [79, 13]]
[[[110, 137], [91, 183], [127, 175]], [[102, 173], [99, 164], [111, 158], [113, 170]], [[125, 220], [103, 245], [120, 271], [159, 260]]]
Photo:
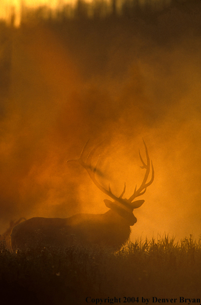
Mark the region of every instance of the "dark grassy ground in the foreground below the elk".
[[[8, 304], [87, 304], [86, 297], [201, 298], [201, 240], [129, 242], [121, 251], [72, 246], [11, 253], [1, 243]], [[13, 294], [14, 291], [14, 294]], [[12, 292], [12, 293], [11, 293]]]

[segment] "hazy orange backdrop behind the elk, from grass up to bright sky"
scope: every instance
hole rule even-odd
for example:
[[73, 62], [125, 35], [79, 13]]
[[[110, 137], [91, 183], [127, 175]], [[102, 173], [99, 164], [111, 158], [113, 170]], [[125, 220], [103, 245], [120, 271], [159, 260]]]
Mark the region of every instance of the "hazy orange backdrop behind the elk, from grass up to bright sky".
[[200, 235], [201, 3], [125, 3], [89, 17], [79, 2], [71, 18], [24, 8], [21, 26], [2, 22], [1, 233], [20, 217], [108, 210], [86, 170], [66, 163], [89, 138], [87, 152], [106, 139], [97, 179], [116, 196], [125, 181], [130, 197], [144, 176], [143, 137], [155, 179], [131, 240]]

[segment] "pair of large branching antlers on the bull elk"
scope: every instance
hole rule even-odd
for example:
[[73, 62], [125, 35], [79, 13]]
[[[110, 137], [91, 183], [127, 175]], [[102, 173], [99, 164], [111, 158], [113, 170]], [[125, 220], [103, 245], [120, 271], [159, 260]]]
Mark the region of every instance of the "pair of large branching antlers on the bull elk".
[[[89, 140], [88, 140], [89, 141]], [[148, 155], [148, 150], [147, 150], [147, 146], [145, 144], [145, 141], [143, 140], [144, 142], [144, 145], [145, 145], [145, 151], [146, 151], [146, 157], [147, 157], [147, 164], [145, 164], [145, 162], [143, 161], [141, 155], [140, 155], [140, 150], [139, 150], [139, 155], [140, 155], [140, 159], [143, 163], [143, 166], [141, 166], [141, 168], [146, 168], [146, 173], [145, 173], [145, 177], [143, 179], [143, 182], [141, 184], [141, 186], [137, 189], [137, 185], [136, 185], [136, 188], [135, 188], [135, 191], [133, 193], [133, 195], [129, 198], [129, 199], [122, 199], [124, 193], [125, 193], [125, 188], [126, 188], [126, 185], [124, 184], [124, 188], [123, 188], [123, 192], [121, 193], [121, 195], [119, 197], [116, 197], [112, 192], [111, 192], [111, 188], [110, 188], [110, 183], [109, 183], [109, 186], [108, 186], [108, 189], [104, 188], [96, 179], [95, 179], [95, 172], [96, 172], [96, 168], [97, 168], [97, 164], [98, 164], [98, 161], [99, 161], [99, 157], [98, 157], [98, 160], [96, 162], [96, 165], [95, 167], [92, 166], [91, 162], [92, 162], [92, 157], [95, 153], [95, 150], [102, 145], [102, 143], [104, 142], [101, 142], [99, 144], [97, 144], [89, 153], [89, 155], [87, 156], [87, 160], [86, 162], [83, 161], [83, 155], [84, 155], [84, 151], [85, 151], [85, 148], [88, 144], [88, 141], [86, 142], [86, 144], [84, 145], [82, 151], [81, 151], [81, 155], [79, 158], [76, 158], [76, 159], [71, 159], [71, 160], [68, 160], [67, 162], [70, 162], [70, 161], [77, 161], [79, 162], [88, 172], [91, 180], [93, 181], [93, 183], [99, 188], [102, 190], [103, 193], [105, 193], [106, 195], [108, 195], [109, 197], [111, 197], [112, 199], [114, 199], [115, 201], [123, 204], [124, 206], [127, 206], [128, 208], [138, 208], [139, 206], [142, 205], [142, 203], [144, 201], [138, 201], [136, 202], [136, 204], [134, 205], [131, 205], [132, 203], [135, 203], [135, 202], [132, 202], [133, 199], [135, 199], [136, 197], [138, 196], [141, 196], [143, 195], [145, 192], [146, 192], [146, 189], [147, 189], [147, 186], [149, 186], [152, 182], [153, 182], [153, 179], [154, 179], [154, 169], [153, 169], [153, 164], [151, 162], [151, 165], [152, 165], [152, 177], [151, 177], [151, 180], [147, 183], [147, 179], [148, 179], [148, 176], [149, 176], [149, 172], [150, 172], [150, 159], [149, 159], [149, 155]]]

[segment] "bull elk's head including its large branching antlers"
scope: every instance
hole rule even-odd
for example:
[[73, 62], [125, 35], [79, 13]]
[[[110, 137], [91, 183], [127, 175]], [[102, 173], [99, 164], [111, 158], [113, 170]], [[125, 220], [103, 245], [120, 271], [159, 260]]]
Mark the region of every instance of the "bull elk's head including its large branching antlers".
[[[87, 156], [86, 162], [84, 162], [83, 160], [83, 155], [84, 155], [84, 151], [85, 148], [87, 146], [88, 141], [86, 142], [86, 144], [84, 145], [81, 155], [79, 158], [76, 159], [71, 159], [68, 160], [67, 162], [70, 161], [76, 161], [79, 162], [88, 172], [91, 180], [93, 181], [93, 183], [100, 189], [102, 190], [103, 193], [105, 193], [106, 195], [108, 195], [110, 198], [113, 199], [113, 201], [105, 199], [104, 203], [105, 205], [111, 209], [112, 211], [116, 212], [118, 215], [120, 215], [121, 217], [123, 217], [124, 219], [127, 220], [127, 222], [129, 223], [129, 226], [135, 224], [137, 222], [137, 218], [133, 215], [133, 209], [137, 209], [139, 207], [141, 207], [141, 205], [145, 202], [144, 200], [135, 200], [137, 197], [145, 194], [147, 187], [153, 182], [154, 180], [154, 168], [153, 168], [153, 164], [151, 161], [151, 179], [149, 182], [147, 182], [149, 173], [150, 173], [150, 159], [149, 159], [149, 155], [148, 155], [148, 150], [147, 150], [147, 146], [145, 144], [145, 141], [143, 139], [144, 145], [145, 145], [145, 153], [146, 153], [146, 159], [147, 162], [145, 163], [141, 157], [140, 154], [140, 150], [139, 150], [139, 156], [140, 159], [142, 161], [142, 169], [145, 169], [145, 176], [144, 179], [142, 181], [142, 184], [140, 185], [140, 187], [137, 189], [137, 185], [135, 187], [135, 190], [132, 194], [132, 196], [130, 196], [128, 199], [126, 198], [122, 198], [124, 193], [125, 193], [125, 189], [126, 189], [126, 185], [124, 184], [124, 188], [123, 188], [123, 192], [121, 193], [121, 195], [119, 197], [116, 197], [112, 192], [111, 192], [111, 187], [110, 187], [110, 183], [108, 186], [108, 189], [106, 189], [105, 187], [103, 187], [95, 178], [95, 172], [97, 169], [97, 163], [98, 160], [96, 162], [95, 167], [92, 166], [92, 158], [93, 155], [95, 153], [95, 150], [103, 143], [99, 143], [98, 145], [96, 145], [89, 153], [89, 155]], [[99, 159], [99, 158], [98, 158]]]

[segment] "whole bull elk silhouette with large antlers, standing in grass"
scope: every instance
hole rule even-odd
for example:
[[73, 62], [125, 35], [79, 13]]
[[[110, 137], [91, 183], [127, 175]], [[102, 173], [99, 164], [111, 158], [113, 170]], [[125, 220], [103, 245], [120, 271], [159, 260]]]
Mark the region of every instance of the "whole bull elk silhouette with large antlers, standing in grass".
[[[143, 140], [144, 142], [144, 140]], [[87, 141], [88, 143], [88, 141]], [[92, 157], [95, 150], [100, 144], [96, 145], [89, 153], [86, 162], [83, 161], [83, 155], [86, 149], [84, 145], [80, 158], [68, 160], [77, 161], [83, 166], [94, 184], [108, 195], [113, 201], [105, 199], [105, 205], [110, 209], [105, 214], [76, 214], [69, 218], [43, 218], [33, 217], [25, 220], [13, 227], [11, 233], [11, 245], [13, 251], [18, 248], [26, 250], [27, 248], [37, 246], [69, 246], [73, 241], [82, 245], [104, 245], [112, 247], [113, 249], [120, 249], [126, 243], [130, 236], [130, 226], [137, 222], [137, 218], [133, 215], [133, 209], [139, 208], [144, 200], [133, 201], [135, 198], [143, 195], [147, 187], [154, 180], [154, 169], [151, 161], [151, 179], [147, 182], [150, 173], [150, 159], [148, 155], [147, 146], [145, 145], [145, 152], [147, 163], [139, 156], [143, 166], [146, 169], [144, 179], [141, 186], [135, 190], [130, 198], [122, 198], [125, 193], [125, 184], [123, 192], [119, 197], [116, 197], [110, 188], [104, 188], [95, 178], [96, 166], [92, 166]]]

